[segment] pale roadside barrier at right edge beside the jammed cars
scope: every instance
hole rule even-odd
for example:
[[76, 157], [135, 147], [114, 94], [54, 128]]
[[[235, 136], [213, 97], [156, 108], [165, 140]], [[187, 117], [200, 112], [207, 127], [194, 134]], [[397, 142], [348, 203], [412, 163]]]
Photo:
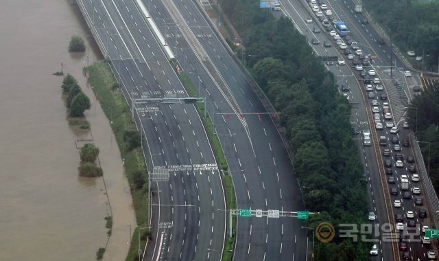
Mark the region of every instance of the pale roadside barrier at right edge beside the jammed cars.
[[439, 198], [436, 194], [436, 191], [434, 190], [433, 183], [431, 183], [431, 179], [428, 176], [428, 172], [425, 169], [425, 163], [423, 154], [420, 151], [420, 147], [418, 142], [416, 142], [416, 137], [414, 136], [414, 133], [409, 134], [410, 143], [412, 144], [412, 148], [414, 151], [414, 156], [416, 157], [416, 165], [418, 166], [418, 174], [420, 176], [421, 183], [423, 185], [423, 190], [425, 194], [426, 201], [428, 203], [429, 209], [430, 209], [430, 217], [431, 221], [434, 222], [435, 227], [438, 226], [438, 220], [439, 220], [439, 213], [436, 211], [439, 211]]

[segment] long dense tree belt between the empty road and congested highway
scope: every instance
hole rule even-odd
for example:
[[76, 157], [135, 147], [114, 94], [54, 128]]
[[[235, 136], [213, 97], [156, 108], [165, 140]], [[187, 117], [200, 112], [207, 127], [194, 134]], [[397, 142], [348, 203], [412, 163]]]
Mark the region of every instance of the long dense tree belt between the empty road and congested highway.
[[[364, 223], [364, 169], [352, 139], [351, 108], [334, 86], [333, 74], [316, 60], [292, 22], [260, 10], [259, 0], [219, 3], [244, 41], [245, 51], [235, 51], [246, 57], [250, 73], [281, 112], [296, 175], [306, 187], [305, 206], [320, 212], [307, 225]], [[333, 242], [316, 244], [316, 260], [367, 260], [368, 247], [335, 236]]]

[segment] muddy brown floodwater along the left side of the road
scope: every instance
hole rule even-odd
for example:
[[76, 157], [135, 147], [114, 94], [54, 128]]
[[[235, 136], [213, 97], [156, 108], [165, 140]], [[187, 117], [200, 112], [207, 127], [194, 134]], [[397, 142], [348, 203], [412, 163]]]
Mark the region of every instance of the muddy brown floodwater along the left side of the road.
[[[62, 78], [51, 75], [61, 63], [92, 101], [86, 117], [114, 223], [104, 260], [125, 259], [129, 225], [135, 227], [115, 138], [82, 77], [86, 54], [67, 52], [73, 34], [88, 37], [72, 2], [0, 0], [0, 260], [95, 260], [107, 242], [104, 182], [78, 177], [75, 141], [91, 134], [69, 127]], [[95, 53], [91, 48], [90, 63]]]

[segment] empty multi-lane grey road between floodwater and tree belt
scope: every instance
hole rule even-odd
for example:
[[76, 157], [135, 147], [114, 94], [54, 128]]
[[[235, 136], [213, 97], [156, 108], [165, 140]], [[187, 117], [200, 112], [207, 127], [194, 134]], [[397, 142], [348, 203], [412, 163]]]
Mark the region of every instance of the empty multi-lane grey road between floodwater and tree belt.
[[[187, 95], [133, 1], [78, 3], [112, 61], [128, 102]], [[257, 117], [265, 108], [202, 12], [192, 1], [145, 1], [145, 6], [206, 96], [233, 175], [238, 208], [301, 210], [298, 182], [271, 115]], [[156, 106], [159, 111], [150, 113], [151, 108], [136, 105], [147, 137], [145, 154], [154, 166], [171, 170], [169, 183], [157, 184], [154, 203], [160, 207], [154, 207], [152, 224], [156, 240], [147, 259], [219, 260], [226, 207], [200, 119], [193, 106]], [[201, 167], [193, 171], [190, 166]], [[292, 218], [239, 218], [234, 258], [305, 260], [307, 233], [301, 225]]]

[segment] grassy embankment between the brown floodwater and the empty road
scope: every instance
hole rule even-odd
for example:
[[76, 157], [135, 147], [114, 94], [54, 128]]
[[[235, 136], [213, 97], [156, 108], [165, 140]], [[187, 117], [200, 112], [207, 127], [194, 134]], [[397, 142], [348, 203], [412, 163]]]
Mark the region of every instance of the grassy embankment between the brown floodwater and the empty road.
[[[123, 134], [126, 131], [136, 131], [136, 126], [131, 120], [130, 108], [123, 97], [123, 93], [117, 87], [117, 81], [107, 63], [95, 63], [88, 67], [88, 70], [90, 71], [90, 78], [88, 78], [88, 81], [90, 82], [106, 117], [112, 122], [111, 128], [115, 134], [119, 150], [121, 151], [121, 157], [125, 162], [124, 168], [130, 183], [137, 225], [139, 227], [147, 227], [147, 185], [134, 191], [134, 183], [132, 181], [132, 174], [137, 171], [144, 173], [145, 176], [143, 178], [147, 180], [145, 160], [143, 159], [141, 148], [130, 150], [129, 144], [123, 140]], [[139, 227], [132, 232], [130, 251], [128, 252], [126, 260], [139, 260], [139, 254], [137, 252], [139, 247]], [[145, 247], [149, 234], [150, 231], [148, 229], [142, 230], [142, 248]]]

